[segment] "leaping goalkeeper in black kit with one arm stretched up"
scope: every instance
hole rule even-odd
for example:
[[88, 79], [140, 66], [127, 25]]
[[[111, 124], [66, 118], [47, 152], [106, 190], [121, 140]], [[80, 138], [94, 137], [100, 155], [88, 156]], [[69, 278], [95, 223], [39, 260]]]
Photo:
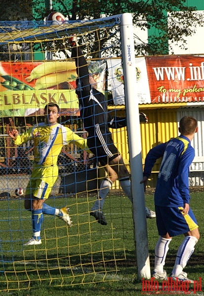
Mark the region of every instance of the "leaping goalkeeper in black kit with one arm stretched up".
[[[107, 221], [102, 208], [111, 186], [117, 179], [125, 194], [132, 201], [129, 172], [118, 148], [113, 143], [109, 130], [109, 128], [126, 126], [126, 118], [112, 117], [108, 112], [106, 98], [96, 89], [97, 83], [89, 74], [87, 62], [74, 38], [70, 39], [70, 45], [72, 46], [72, 58], [75, 58], [76, 61], [78, 74], [76, 94], [79, 98], [84, 129], [88, 132], [87, 145], [107, 172], [107, 178], [101, 183], [98, 199], [94, 203], [90, 215], [102, 225], [106, 225]], [[144, 113], [138, 115], [140, 122], [148, 121]], [[155, 212], [146, 208], [146, 217], [155, 218]]]

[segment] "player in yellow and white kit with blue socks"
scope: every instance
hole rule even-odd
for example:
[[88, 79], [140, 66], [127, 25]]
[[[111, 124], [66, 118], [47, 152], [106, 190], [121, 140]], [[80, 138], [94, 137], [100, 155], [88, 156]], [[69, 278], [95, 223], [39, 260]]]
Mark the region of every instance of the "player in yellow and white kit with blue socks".
[[41, 244], [43, 214], [55, 215], [69, 226], [72, 224], [68, 213], [69, 208], [56, 209], [47, 205], [45, 201], [58, 177], [57, 159], [62, 147], [74, 143], [82, 149], [88, 149], [86, 139], [57, 123], [60, 116], [57, 104], [47, 104], [44, 114], [44, 123], [36, 124], [21, 135], [16, 129], [9, 131], [9, 136], [17, 146], [29, 140], [34, 141], [35, 161], [25, 195], [25, 209], [32, 212], [33, 237], [24, 244], [25, 246]]

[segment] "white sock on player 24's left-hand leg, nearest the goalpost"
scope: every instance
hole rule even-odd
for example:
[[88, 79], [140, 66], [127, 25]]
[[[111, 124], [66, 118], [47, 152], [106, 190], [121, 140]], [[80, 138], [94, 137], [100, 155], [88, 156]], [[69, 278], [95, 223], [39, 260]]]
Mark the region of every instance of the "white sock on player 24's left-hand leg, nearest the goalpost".
[[154, 271], [162, 274], [163, 266], [165, 264], [166, 254], [168, 252], [168, 245], [171, 238], [163, 238], [160, 236], [157, 245], [155, 247], [155, 268]]

